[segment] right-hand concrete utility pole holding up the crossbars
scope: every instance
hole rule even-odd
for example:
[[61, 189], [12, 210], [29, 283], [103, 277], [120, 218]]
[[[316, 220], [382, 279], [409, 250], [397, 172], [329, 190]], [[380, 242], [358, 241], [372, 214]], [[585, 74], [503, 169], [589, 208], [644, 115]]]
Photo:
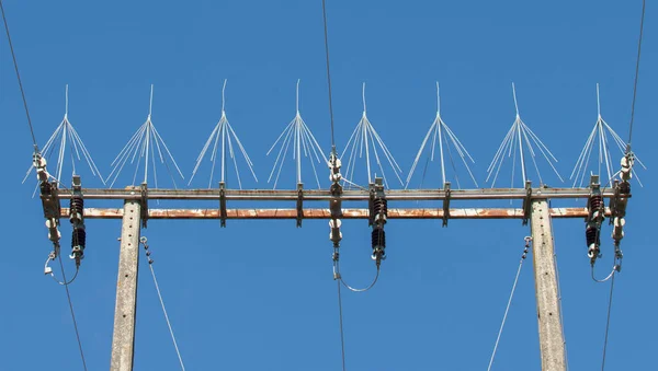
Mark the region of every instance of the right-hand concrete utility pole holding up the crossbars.
[[546, 199], [532, 201], [531, 229], [542, 370], [565, 371], [565, 338], [557, 292], [551, 213]]

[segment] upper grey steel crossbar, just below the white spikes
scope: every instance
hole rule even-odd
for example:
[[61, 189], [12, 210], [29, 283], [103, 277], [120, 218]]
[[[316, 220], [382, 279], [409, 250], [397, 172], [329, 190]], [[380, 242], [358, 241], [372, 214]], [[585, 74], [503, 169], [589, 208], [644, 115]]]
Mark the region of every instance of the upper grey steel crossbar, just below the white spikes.
[[[82, 189], [86, 199], [140, 199], [138, 189]], [[296, 201], [298, 190], [277, 189], [226, 189], [227, 200], [271, 200]], [[545, 198], [588, 198], [590, 188], [532, 188], [532, 199]], [[70, 198], [69, 190], [59, 189], [59, 198]], [[304, 201], [329, 201], [333, 196], [330, 190], [305, 189]], [[451, 189], [451, 200], [478, 200], [478, 199], [524, 199], [527, 197], [525, 188], [480, 188], [480, 189]], [[444, 200], [447, 198], [444, 189], [388, 189], [386, 199], [390, 200]], [[613, 189], [606, 189], [603, 197], [614, 197]], [[158, 189], [148, 190], [148, 199], [170, 200], [219, 200], [219, 189]], [[366, 201], [370, 198], [367, 189], [344, 190], [341, 199], [345, 201]]]

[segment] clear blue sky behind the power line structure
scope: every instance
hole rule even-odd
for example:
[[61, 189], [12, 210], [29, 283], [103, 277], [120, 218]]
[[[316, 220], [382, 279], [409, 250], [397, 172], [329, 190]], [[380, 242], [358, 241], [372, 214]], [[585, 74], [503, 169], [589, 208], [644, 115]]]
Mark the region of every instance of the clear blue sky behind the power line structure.
[[[39, 144], [61, 120], [68, 83], [69, 118], [104, 175], [144, 123], [151, 83], [154, 123], [186, 177], [219, 118], [225, 78], [228, 118], [261, 179], [245, 177], [247, 187], [270, 187], [264, 181], [273, 159], [265, 151], [294, 116], [297, 79], [303, 117], [329, 151], [320, 0], [4, 5]], [[634, 134], [649, 171], [640, 173], [645, 187], [633, 188], [628, 206], [606, 370], [649, 370], [658, 349], [654, 5], [646, 14]], [[514, 118], [514, 81], [521, 116], [568, 177], [597, 118], [597, 82], [603, 117], [627, 137], [639, 11], [640, 1], [328, 1], [339, 150], [361, 117], [365, 81], [368, 117], [406, 175], [434, 118], [438, 80], [443, 118], [475, 156], [483, 186]], [[0, 53], [0, 369], [81, 370], [65, 291], [42, 274], [52, 247], [41, 204], [31, 198], [33, 183], [20, 183], [32, 146], [4, 35]], [[430, 171], [434, 183], [426, 184], [439, 187], [439, 167]], [[80, 173], [86, 186], [100, 186], [88, 170]], [[196, 186], [207, 175], [206, 169]], [[320, 176], [327, 179], [324, 167]], [[282, 179], [294, 187], [292, 167]], [[129, 182], [125, 174], [120, 181]], [[365, 285], [374, 274], [367, 224], [343, 225], [343, 275]], [[87, 230], [87, 258], [70, 289], [89, 370], [104, 370], [120, 222], [88, 221]], [[392, 221], [386, 230], [388, 259], [377, 286], [363, 294], [343, 291], [348, 369], [486, 370], [529, 229], [517, 220], [455, 220], [446, 229], [439, 221]], [[66, 220], [61, 231], [67, 252]], [[578, 371], [600, 369], [609, 292], [590, 279], [583, 232], [581, 220], [555, 221], [568, 360]], [[143, 234], [188, 370], [339, 370], [328, 233], [326, 221], [306, 221], [303, 229], [294, 221], [229, 221], [226, 229], [218, 221], [150, 222]], [[600, 274], [612, 259], [608, 224], [602, 233]], [[145, 259], [140, 267], [135, 370], [178, 370]], [[540, 370], [533, 287], [526, 264], [494, 370]]]

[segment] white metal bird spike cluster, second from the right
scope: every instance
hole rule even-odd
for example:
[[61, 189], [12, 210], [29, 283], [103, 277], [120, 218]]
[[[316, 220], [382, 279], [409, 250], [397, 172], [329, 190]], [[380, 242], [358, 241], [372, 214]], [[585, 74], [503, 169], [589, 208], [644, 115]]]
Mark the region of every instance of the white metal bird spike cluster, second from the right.
[[[517, 109], [517, 118], [512, 124], [512, 127], [508, 130], [507, 135], [502, 139], [502, 143], [498, 148], [498, 151], [494, 155], [494, 160], [489, 164], [487, 169], [487, 178], [486, 182], [491, 181], [491, 188], [495, 187], [496, 181], [498, 179], [498, 174], [500, 173], [500, 169], [502, 167], [502, 163], [506, 158], [512, 158], [512, 175], [510, 179], [510, 187], [514, 187], [514, 175], [518, 167], [520, 167], [520, 177], [523, 182], [521, 187], [525, 185], [529, 181], [527, 169], [525, 163], [525, 158], [530, 154], [532, 160], [533, 167], [537, 174], [540, 179], [540, 184], [544, 184], [542, 179], [542, 174], [540, 172], [540, 167], [537, 165], [536, 156], [537, 151], [542, 154], [544, 160], [548, 163], [551, 169], [555, 172], [560, 182], [564, 182], [557, 169], [555, 169], [555, 163], [557, 163], [557, 159], [551, 153], [548, 147], [542, 142], [540, 137], [537, 137], [525, 123], [521, 119], [519, 115], [519, 103], [517, 101], [517, 89], [514, 83], [512, 82], [512, 94], [514, 96], [514, 107]], [[534, 144], [534, 146], [533, 146]], [[536, 147], [536, 149], [535, 149]], [[517, 160], [517, 154], [519, 159]], [[518, 163], [518, 164], [517, 164]]]

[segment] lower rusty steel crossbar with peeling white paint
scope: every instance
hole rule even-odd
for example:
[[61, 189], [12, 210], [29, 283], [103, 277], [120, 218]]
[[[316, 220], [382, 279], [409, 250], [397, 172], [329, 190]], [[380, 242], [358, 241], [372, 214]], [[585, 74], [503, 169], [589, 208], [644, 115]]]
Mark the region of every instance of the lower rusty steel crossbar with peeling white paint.
[[[342, 219], [367, 219], [367, 209], [343, 209]], [[69, 210], [61, 210], [68, 218]], [[443, 209], [388, 209], [388, 219], [443, 219]], [[586, 218], [587, 208], [552, 208], [552, 218]], [[610, 216], [610, 209], [605, 210]], [[121, 219], [124, 210], [86, 208], [86, 219]], [[523, 219], [523, 209], [450, 209], [450, 219]], [[297, 219], [297, 209], [227, 209], [227, 219]], [[149, 219], [220, 219], [217, 209], [149, 209]], [[331, 219], [329, 209], [304, 209], [304, 219]]]

